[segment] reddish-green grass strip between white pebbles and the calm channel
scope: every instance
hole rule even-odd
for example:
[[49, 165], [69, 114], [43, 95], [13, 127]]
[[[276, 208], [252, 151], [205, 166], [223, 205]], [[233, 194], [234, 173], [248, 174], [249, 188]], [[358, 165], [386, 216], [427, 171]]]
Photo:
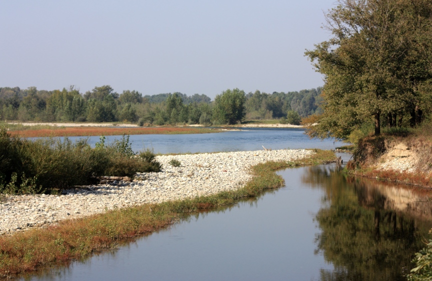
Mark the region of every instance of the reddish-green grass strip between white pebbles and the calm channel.
[[252, 178], [241, 188], [191, 199], [143, 204], [83, 218], [60, 221], [48, 228], [0, 236], [0, 277], [29, 272], [42, 266], [67, 264], [93, 252], [115, 248], [119, 243], [171, 225], [199, 210], [229, 205], [283, 184], [274, 171], [280, 168], [319, 164], [334, 158], [330, 151], [315, 150], [309, 158], [292, 162], [269, 161], [251, 167]]

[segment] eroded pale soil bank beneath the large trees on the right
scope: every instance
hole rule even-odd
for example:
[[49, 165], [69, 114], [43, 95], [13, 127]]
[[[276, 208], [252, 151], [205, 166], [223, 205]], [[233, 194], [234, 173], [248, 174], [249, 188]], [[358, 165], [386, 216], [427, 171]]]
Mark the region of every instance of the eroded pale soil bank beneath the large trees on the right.
[[357, 173], [432, 187], [432, 140], [425, 137], [367, 137], [358, 143]]

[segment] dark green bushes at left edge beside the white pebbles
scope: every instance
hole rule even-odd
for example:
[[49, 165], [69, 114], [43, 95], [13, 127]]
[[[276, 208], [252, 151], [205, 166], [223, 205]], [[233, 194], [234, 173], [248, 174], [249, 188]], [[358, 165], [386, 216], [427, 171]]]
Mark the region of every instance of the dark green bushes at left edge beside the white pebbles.
[[[51, 192], [96, 182], [97, 176], [133, 176], [159, 171], [150, 151], [132, 157], [128, 137], [91, 148], [86, 139], [44, 138], [31, 141], [11, 136], [0, 127], [0, 193]], [[145, 157], [142, 157], [144, 155]], [[151, 156], [152, 155], [152, 156]]]

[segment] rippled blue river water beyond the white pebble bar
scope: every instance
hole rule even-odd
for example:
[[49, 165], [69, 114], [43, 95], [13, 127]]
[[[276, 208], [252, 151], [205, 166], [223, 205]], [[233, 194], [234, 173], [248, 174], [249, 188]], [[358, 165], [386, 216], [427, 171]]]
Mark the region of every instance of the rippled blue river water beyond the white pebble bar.
[[[69, 137], [71, 140], [82, 137]], [[106, 136], [106, 141], [120, 139], [119, 135]], [[302, 128], [247, 128], [234, 131], [198, 134], [135, 134], [130, 135], [132, 150], [153, 149], [155, 153], [215, 152], [215, 151], [252, 151], [271, 149], [320, 148], [334, 149], [344, 145], [332, 139], [310, 139]], [[92, 146], [99, 136], [88, 137]]]

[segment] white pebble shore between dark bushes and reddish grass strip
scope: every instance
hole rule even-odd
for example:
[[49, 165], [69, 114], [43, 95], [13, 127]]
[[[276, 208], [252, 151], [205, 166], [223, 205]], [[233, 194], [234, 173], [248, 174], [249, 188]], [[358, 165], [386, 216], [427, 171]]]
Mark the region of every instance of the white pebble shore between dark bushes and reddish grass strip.
[[[304, 149], [161, 155], [161, 172], [137, 173], [131, 182], [81, 186], [63, 195], [0, 197], [0, 234], [46, 226], [117, 207], [155, 203], [237, 189], [251, 178], [249, 167], [269, 160], [295, 160], [313, 152]], [[175, 158], [179, 167], [169, 164]]]

